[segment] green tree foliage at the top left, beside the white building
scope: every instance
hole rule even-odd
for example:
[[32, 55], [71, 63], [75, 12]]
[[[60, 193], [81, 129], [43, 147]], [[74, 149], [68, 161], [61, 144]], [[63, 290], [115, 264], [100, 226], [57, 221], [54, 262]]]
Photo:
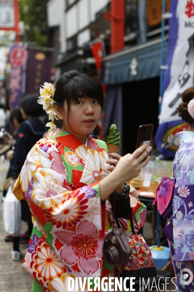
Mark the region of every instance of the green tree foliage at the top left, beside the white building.
[[20, 21], [24, 22], [23, 41], [47, 45], [48, 0], [19, 0]]

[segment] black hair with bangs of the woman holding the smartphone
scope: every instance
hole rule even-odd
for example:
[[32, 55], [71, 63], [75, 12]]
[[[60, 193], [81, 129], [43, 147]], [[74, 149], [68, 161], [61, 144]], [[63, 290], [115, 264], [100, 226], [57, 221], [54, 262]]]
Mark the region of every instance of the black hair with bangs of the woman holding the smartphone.
[[56, 83], [53, 98], [56, 105], [63, 106], [66, 100], [69, 114], [71, 102], [78, 101], [79, 97], [97, 99], [101, 108], [103, 108], [103, 89], [95, 79], [77, 70], [65, 72]]

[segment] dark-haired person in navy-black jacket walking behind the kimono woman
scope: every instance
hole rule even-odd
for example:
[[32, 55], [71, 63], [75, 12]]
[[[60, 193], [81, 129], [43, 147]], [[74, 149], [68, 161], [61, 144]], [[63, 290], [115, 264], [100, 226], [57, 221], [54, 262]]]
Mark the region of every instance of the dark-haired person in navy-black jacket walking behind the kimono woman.
[[[44, 114], [43, 108], [37, 103], [38, 96], [28, 95], [20, 101], [20, 111], [25, 120], [18, 129], [14, 160], [10, 168], [10, 176], [13, 178], [10, 185], [14, 186], [21, 168], [32, 146], [43, 137], [47, 128], [40, 116]], [[28, 231], [20, 237], [13, 237], [12, 259], [20, 259], [19, 243], [27, 243], [32, 233], [32, 217], [29, 206], [25, 200], [21, 200], [22, 219], [29, 224]]]

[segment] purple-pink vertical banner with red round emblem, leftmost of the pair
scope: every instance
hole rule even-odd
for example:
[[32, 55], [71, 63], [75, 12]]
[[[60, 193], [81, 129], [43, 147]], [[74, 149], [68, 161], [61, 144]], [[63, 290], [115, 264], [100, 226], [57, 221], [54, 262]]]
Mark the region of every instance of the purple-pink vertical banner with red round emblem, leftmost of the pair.
[[18, 106], [22, 93], [25, 92], [25, 69], [27, 61], [27, 51], [19, 44], [11, 47], [9, 62], [11, 72], [9, 77], [9, 106], [10, 110]]

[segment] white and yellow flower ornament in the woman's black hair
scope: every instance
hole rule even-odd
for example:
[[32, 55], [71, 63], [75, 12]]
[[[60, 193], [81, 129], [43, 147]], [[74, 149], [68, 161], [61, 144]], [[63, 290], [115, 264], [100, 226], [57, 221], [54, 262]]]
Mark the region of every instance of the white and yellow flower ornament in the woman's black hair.
[[57, 114], [54, 111], [54, 104], [55, 101], [53, 100], [54, 97], [54, 85], [48, 82], [45, 82], [44, 85], [40, 87], [40, 96], [38, 97], [37, 103], [43, 105], [43, 110], [49, 114], [49, 120], [51, 122], [47, 123], [46, 127], [50, 127], [51, 129], [57, 128], [55, 126], [54, 119], [58, 120]]

